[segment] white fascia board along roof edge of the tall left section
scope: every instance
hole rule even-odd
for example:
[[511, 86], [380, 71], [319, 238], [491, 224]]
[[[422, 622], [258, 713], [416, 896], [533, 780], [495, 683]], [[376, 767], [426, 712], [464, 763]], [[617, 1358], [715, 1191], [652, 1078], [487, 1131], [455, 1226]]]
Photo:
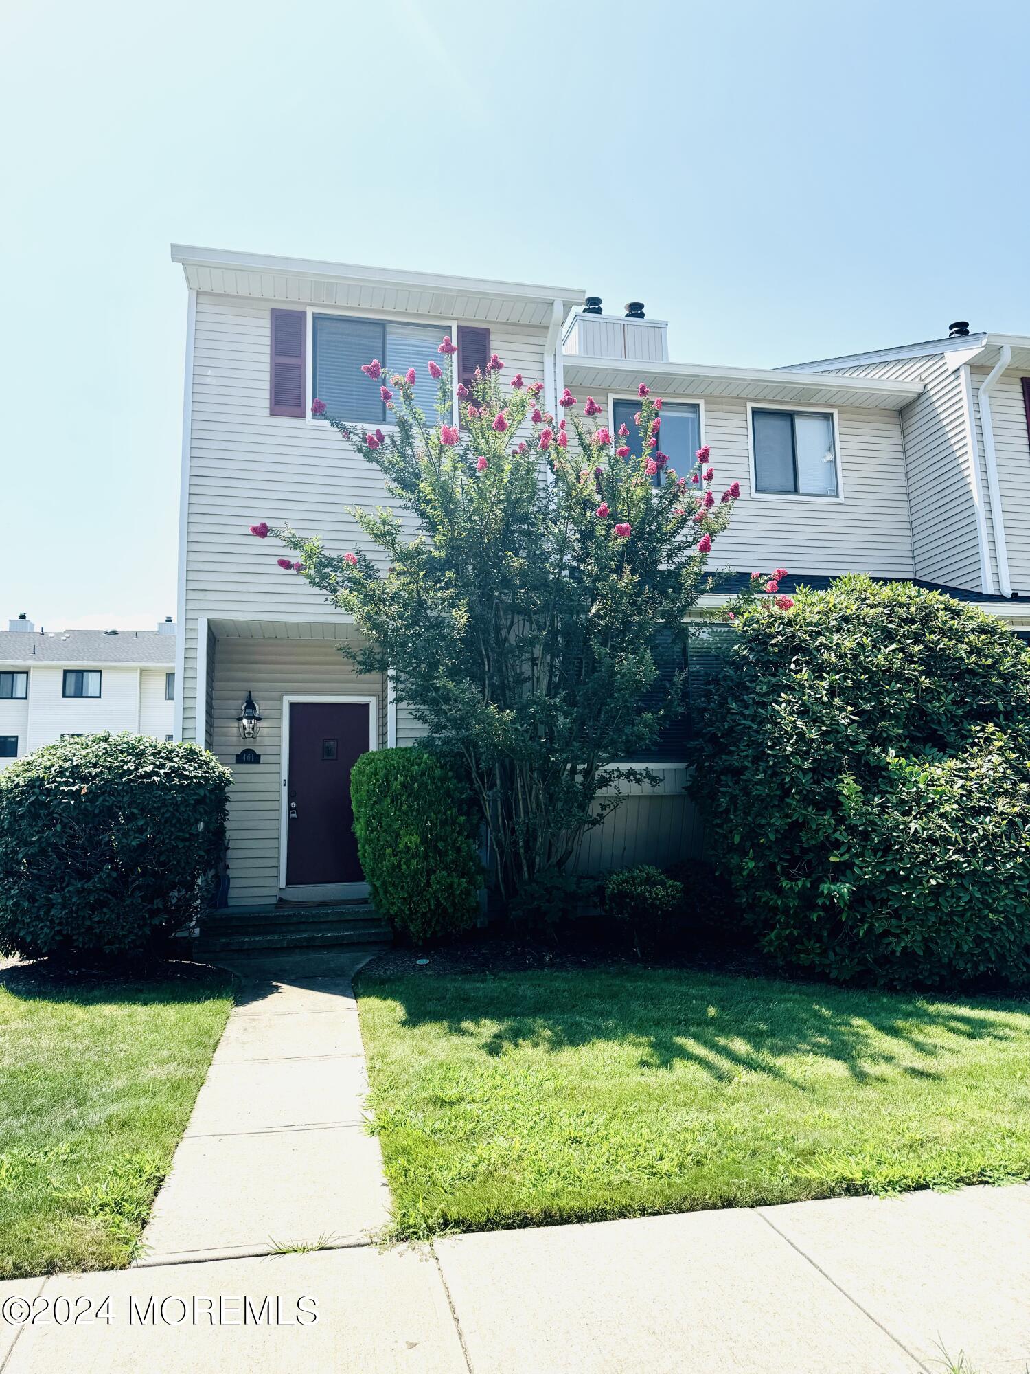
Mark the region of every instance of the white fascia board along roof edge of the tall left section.
[[192, 247], [173, 243], [172, 261], [188, 267], [214, 267], [243, 272], [272, 272], [277, 276], [330, 278], [352, 286], [397, 286], [427, 291], [457, 291], [463, 295], [486, 295], [503, 301], [563, 301], [575, 308], [584, 291], [575, 286], [531, 286], [522, 282], [492, 282], [471, 276], [445, 276], [438, 272], [408, 272], [398, 268], [364, 267], [353, 262], [320, 262], [312, 258], [287, 258], [264, 253], [235, 253], [227, 249]]

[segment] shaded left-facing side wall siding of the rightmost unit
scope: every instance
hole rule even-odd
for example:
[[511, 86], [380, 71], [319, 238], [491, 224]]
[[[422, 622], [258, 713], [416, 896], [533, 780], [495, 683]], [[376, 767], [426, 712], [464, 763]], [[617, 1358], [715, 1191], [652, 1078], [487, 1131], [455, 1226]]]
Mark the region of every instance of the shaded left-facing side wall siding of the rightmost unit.
[[949, 372], [939, 353], [838, 371], [924, 383], [923, 394], [901, 411], [915, 576], [982, 591], [961, 372]]

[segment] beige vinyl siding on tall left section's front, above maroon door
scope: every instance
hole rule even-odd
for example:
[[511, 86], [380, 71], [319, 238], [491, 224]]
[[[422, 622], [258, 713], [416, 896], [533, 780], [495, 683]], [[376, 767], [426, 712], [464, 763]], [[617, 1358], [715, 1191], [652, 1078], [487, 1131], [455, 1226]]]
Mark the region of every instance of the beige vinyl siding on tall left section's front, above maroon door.
[[[441, 324], [441, 335], [449, 330], [449, 323]], [[545, 337], [542, 328], [490, 326], [505, 382], [516, 371], [526, 382], [542, 378]], [[284, 554], [276, 539], [257, 540], [249, 526], [261, 519], [291, 525], [343, 552], [360, 544], [349, 508], [387, 504], [378, 470], [335, 430], [268, 414], [269, 341], [271, 302], [198, 295], [181, 627], [184, 739], [196, 732], [199, 616], [260, 611], [282, 621], [339, 616], [302, 577], [276, 566]]]

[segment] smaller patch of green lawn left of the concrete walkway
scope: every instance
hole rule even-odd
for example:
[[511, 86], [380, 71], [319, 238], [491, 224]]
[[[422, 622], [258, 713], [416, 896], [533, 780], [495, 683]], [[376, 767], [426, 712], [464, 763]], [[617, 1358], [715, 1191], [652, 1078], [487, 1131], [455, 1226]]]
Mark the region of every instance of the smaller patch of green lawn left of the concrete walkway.
[[0, 973], [0, 1279], [129, 1263], [231, 1004], [224, 976]]

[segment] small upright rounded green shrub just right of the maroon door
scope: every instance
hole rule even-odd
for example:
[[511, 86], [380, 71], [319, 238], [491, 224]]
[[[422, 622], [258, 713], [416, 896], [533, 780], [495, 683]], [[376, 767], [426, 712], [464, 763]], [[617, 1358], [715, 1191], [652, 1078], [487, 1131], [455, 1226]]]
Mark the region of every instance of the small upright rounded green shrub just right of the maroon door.
[[415, 944], [467, 930], [485, 874], [467, 793], [446, 760], [422, 747], [361, 754], [350, 798], [379, 915]]

